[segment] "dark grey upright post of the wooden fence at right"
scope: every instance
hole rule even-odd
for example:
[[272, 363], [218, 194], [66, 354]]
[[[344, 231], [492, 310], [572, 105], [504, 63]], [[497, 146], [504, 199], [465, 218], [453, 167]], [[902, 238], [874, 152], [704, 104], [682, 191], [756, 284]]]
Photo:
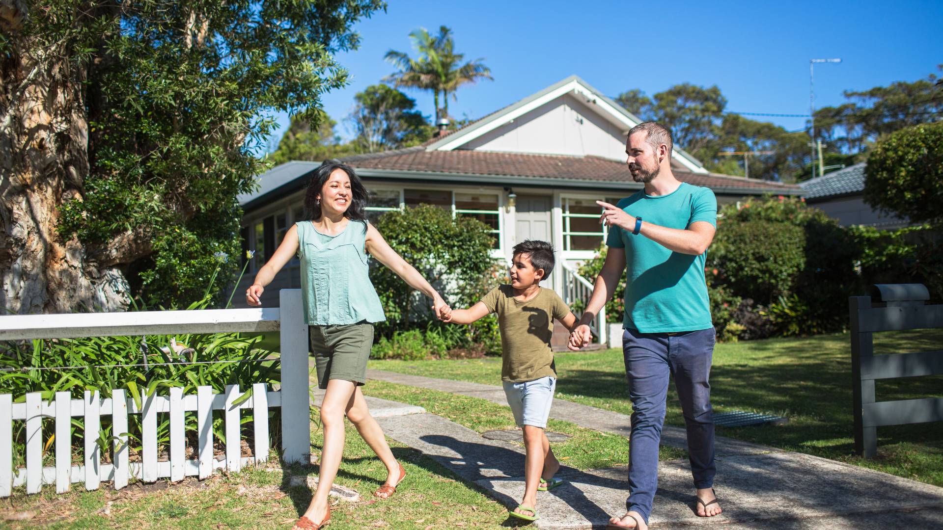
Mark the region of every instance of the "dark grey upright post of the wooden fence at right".
[[861, 311], [871, 308], [869, 296], [851, 296], [849, 302], [852, 335], [852, 401], [854, 411], [854, 451], [866, 458], [878, 452], [878, 428], [864, 426], [864, 406], [874, 403], [874, 379], [861, 378], [861, 359], [874, 356], [874, 334], [861, 331]]

